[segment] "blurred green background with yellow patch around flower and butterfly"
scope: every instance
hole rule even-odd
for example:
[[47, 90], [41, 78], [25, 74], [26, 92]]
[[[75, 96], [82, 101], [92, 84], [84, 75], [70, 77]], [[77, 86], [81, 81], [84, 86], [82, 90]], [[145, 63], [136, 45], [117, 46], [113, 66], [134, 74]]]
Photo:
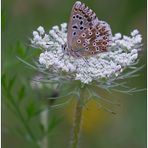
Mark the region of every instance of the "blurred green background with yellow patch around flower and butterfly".
[[[36, 72], [28, 69], [16, 56], [27, 61], [36, 59], [40, 51], [29, 46], [32, 31], [40, 25], [48, 31], [53, 25], [67, 22], [74, 2], [74, 0], [2, 0], [2, 81], [9, 83], [15, 77], [13, 87], [2, 94], [3, 148], [36, 147], [33, 142], [29, 142], [16, 132], [19, 126], [23, 131], [25, 129], [12, 112], [13, 109], [11, 110], [12, 96], [25, 119], [26, 111], [27, 114], [30, 112], [32, 114], [34, 111], [32, 108], [40, 106], [40, 101], [36, 99], [37, 96], [30, 87], [30, 80]], [[110, 24], [113, 34], [121, 32], [129, 35], [133, 29], [140, 30], [143, 36], [140, 65], [145, 64], [145, 68], [140, 71], [138, 78], [128, 81], [138, 88], [146, 88], [146, 0], [83, 0], [82, 2], [93, 9], [99, 19]], [[8, 95], [9, 91], [12, 96]], [[120, 100], [121, 106], [117, 115], [112, 116], [110, 113], [97, 110], [92, 102], [89, 111], [84, 113], [81, 148], [146, 148], [146, 92], [130, 96], [113, 93], [107, 97]], [[23, 101], [21, 100], [19, 104], [16, 98], [20, 100], [23, 98]], [[31, 108], [31, 111], [28, 108]], [[48, 135], [49, 147], [68, 147], [72, 110], [73, 103], [70, 103], [64, 108], [51, 111], [52, 120], [57, 118], [56, 120], [60, 121]], [[38, 116], [31, 119], [30, 128], [35, 135], [39, 135], [35, 128], [38, 122]], [[22, 131], [21, 134], [24, 135]]]

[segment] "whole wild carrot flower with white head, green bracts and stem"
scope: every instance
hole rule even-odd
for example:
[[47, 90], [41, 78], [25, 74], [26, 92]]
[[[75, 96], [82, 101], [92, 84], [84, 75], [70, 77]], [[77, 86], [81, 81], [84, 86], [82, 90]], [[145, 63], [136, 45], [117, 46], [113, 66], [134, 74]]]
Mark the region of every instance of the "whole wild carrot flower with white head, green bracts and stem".
[[[61, 24], [60, 27], [52, 27], [47, 33], [40, 26], [36, 31], [33, 31], [31, 39], [31, 46], [41, 50], [36, 66], [21, 60], [45, 74], [38, 79], [39, 82], [46, 82], [50, 87], [53, 85], [54, 89], [64, 90], [64, 95], [57, 98], [77, 97], [73, 125], [73, 147], [78, 144], [83, 105], [91, 99], [95, 99], [97, 103], [101, 99], [106, 103], [114, 104], [111, 100], [100, 96], [96, 89], [102, 88], [107, 91], [113, 90], [123, 93], [143, 90], [135, 87], [130, 88], [125, 81], [127, 78], [137, 76], [136, 72], [143, 68], [143, 66], [137, 66], [139, 52], [142, 50], [141, 34], [137, 29], [133, 30], [129, 36], [116, 33], [112, 40], [112, 45], [107, 52], [75, 58], [67, 55], [63, 50], [63, 45], [67, 42], [66, 23]], [[105, 106], [102, 108], [110, 111]]]

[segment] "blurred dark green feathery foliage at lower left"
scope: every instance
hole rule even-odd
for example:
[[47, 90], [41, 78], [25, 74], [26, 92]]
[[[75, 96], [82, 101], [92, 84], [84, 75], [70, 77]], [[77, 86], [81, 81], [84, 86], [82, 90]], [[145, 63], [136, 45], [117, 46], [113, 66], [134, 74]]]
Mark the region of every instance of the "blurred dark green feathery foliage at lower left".
[[[35, 120], [39, 120], [41, 113], [46, 109], [47, 105], [42, 104], [39, 100], [27, 98], [26, 86], [23, 84], [19, 84], [20, 87], [16, 90], [16, 82], [17, 76], [9, 78], [6, 74], [2, 75], [2, 94], [4, 103], [11, 111], [11, 114], [14, 114], [18, 120], [17, 128], [10, 128], [9, 131], [21, 135], [21, 137], [32, 141], [34, 145], [37, 146], [42, 137], [50, 134], [50, 132], [61, 122], [61, 118], [55, 116], [51, 117], [47, 131], [43, 129], [44, 127], [41, 124], [36, 124], [35, 127], [32, 126], [34, 124], [33, 119], [36, 117]], [[14, 91], [17, 93], [15, 94]], [[22, 102], [25, 104], [25, 108]], [[36, 135], [34, 132], [35, 128], [40, 129], [42, 131], [41, 134], [38, 133], [39, 135]]]

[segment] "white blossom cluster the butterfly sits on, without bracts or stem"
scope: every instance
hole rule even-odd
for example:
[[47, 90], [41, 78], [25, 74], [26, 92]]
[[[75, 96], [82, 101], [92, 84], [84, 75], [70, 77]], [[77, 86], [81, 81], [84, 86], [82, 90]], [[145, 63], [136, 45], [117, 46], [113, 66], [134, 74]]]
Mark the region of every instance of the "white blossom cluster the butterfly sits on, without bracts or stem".
[[117, 33], [113, 37], [112, 47], [108, 52], [100, 53], [87, 58], [75, 58], [65, 54], [62, 45], [67, 38], [67, 24], [61, 27], [54, 26], [48, 34], [39, 27], [33, 31], [31, 44], [41, 48], [39, 63], [46, 69], [55, 72], [64, 72], [72, 79], [83, 83], [102, 78], [117, 77], [125, 67], [134, 64], [141, 50], [142, 37], [138, 30], [131, 32], [131, 36], [122, 36]]

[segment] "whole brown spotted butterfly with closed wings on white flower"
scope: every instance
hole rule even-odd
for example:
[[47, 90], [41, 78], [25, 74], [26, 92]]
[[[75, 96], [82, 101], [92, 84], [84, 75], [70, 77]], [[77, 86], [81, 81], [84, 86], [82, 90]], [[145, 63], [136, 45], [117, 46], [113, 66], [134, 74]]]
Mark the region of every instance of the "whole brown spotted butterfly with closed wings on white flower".
[[80, 1], [73, 5], [64, 50], [73, 57], [106, 52], [112, 44], [110, 26]]

